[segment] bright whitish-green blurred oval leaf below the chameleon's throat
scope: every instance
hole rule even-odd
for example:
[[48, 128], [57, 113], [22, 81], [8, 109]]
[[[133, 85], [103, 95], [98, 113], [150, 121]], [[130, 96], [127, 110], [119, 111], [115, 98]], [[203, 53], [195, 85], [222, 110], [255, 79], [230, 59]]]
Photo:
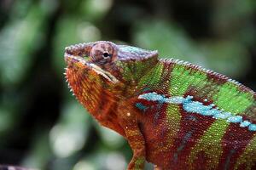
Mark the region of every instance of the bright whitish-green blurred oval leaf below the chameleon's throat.
[[72, 156], [82, 149], [89, 133], [88, 117], [84, 108], [77, 102], [64, 106], [60, 122], [49, 133], [50, 144], [56, 156]]

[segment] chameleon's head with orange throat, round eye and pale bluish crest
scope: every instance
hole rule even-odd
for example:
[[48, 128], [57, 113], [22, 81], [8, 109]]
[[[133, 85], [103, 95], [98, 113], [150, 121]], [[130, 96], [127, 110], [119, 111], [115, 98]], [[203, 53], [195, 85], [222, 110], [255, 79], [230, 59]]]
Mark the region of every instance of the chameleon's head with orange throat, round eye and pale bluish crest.
[[125, 86], [136, 83], [157, 62], [157, 51], [113, 42], [88, 42], [65, 49], [67, 82], [91, 114], [102, 100], [116, 100]]

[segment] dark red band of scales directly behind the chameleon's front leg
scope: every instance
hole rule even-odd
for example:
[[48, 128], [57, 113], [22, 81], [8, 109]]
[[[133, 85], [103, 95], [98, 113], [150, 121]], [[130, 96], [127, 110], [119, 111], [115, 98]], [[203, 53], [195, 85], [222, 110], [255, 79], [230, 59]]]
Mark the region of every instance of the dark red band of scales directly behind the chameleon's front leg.
[[166, 126], [167, 104], [146, 99], [135, 99], [132, 103], [139, 113], [138, 120], [146, 142], [147, 158], [149, 161], [157, 161], [158, 158], [162, 157], [157, 156], [157, 154], [160, 148], [166, 145], [166, 136], [169, 134], [168, 126]]

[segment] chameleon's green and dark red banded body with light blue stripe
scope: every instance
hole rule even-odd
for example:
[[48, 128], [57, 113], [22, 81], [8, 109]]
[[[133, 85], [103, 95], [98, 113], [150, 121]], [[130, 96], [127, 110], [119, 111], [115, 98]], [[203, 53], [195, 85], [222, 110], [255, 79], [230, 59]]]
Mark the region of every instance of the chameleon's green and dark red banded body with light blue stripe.
[[238, 82], [178, 60], [160, 60], [132, 105], [148, 161], [164, 169], [251, 169], [256, 95]]

